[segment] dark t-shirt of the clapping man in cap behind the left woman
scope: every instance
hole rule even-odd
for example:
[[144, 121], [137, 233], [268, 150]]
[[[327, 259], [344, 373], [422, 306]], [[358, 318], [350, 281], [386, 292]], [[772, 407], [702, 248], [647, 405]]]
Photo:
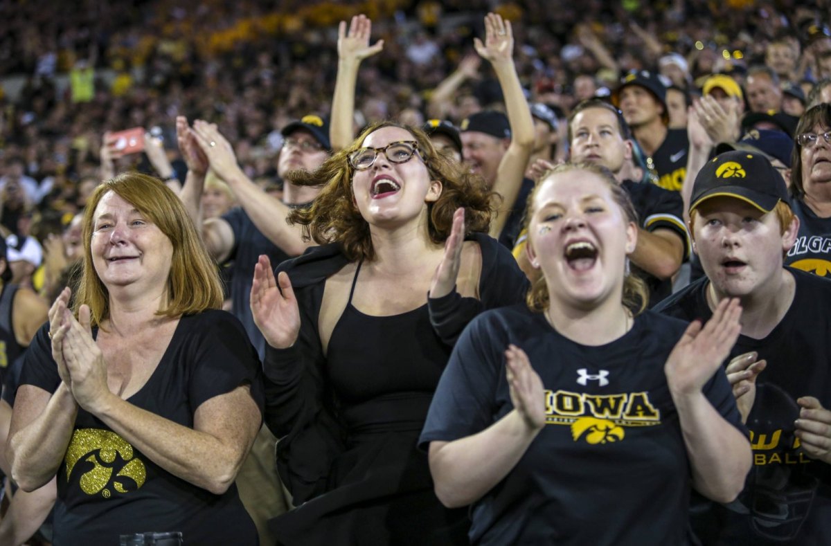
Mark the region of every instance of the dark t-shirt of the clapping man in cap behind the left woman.
[[[257, 328], [257, 324], [254, 324], [251, 305], [249, 305], [254, 266], [261, 254], [268, 256], [274, 267], [291, 256], [269, 241], [263, 232], [254, 226], [254, 222], [242, 208], [237, 207], [226, 212], [222, 219], [229, 223], [234, 232], [234, 248], [228, 257], [229, 261], [233, 260], [228, 272], [231, 287], [231, 313], [243, 323], [245, 331], [248, 332], [248, 339], [251, 339], [251, 343], [262, 360], [265, 355], [265, 338]], [[284, 220], [278, 218], [274, 222], [284, 222]]]

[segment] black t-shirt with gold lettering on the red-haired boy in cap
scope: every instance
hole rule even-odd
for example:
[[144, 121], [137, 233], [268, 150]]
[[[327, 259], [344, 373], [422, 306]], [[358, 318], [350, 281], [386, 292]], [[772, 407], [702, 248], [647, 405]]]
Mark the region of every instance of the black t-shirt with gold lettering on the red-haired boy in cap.
[[[788, 271], [796, 291], [783, 319], [765, 339], [740, 335], [730, 352], [755, 351], [767, 361], [747, 421], [754, 466], [735, 503], [696, 505], [694, 529], [704, 544], [831, 544], [831, 468], [794, 447], [796, 399], [817, 397], [831, 408], [831, 282]], [[697, 280], [656, 310], [709, 319], [708, 284]]]

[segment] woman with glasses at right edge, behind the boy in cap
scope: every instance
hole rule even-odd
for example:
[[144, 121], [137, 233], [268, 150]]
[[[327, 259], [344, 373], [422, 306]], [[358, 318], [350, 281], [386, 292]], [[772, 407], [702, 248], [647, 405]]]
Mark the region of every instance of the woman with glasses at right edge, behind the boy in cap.
[[785, 265], [831, 277], [831, 105], [802, 115], [796, 127], [791, 208], [799, 233]]

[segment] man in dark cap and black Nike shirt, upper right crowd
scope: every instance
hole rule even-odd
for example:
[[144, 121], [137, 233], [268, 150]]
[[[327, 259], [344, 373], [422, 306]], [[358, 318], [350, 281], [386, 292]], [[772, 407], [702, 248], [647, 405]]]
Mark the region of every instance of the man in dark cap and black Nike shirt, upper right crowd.
[[630, 72], [612, 93], [632, 134], [647, 154], [647, 167], [661, 188], [679, 191], [686, 177], [689, 141], [685, 129], [669, 129], [666, 85], [652, 72]]

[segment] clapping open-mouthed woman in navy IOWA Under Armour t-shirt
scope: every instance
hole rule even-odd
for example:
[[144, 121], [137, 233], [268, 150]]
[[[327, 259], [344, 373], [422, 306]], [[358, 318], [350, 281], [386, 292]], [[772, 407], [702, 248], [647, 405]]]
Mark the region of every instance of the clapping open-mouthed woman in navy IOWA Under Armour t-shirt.
[[529, 201], [527, 303], [455, 344], [420, 446], [472, 544], [688, 544], [691, 487], [738, 495], [750, 468], [725, 374], [740, 307], [705, 326], [644, 310], [627, 275], [637, 215], [606, 168], [563, 164]]

